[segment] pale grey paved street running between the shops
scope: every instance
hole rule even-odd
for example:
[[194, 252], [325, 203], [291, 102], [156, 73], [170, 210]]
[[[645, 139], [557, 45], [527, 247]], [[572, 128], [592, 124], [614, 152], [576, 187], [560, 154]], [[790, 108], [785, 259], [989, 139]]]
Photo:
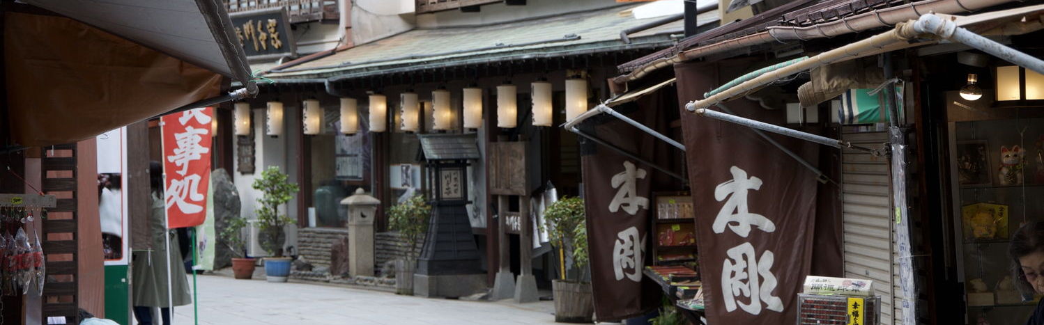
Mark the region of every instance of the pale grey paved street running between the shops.
[[[199, 324], [553, 324], [552, 302], [428, 299], [319, 285], [200, 275]], [[192, 324], [192, 305], [174, 324]]]

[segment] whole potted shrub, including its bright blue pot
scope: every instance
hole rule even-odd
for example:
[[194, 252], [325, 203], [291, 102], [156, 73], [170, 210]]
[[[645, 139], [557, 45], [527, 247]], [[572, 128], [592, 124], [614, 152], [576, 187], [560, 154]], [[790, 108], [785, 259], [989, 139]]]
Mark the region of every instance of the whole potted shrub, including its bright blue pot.
[[290, 275], [290, 257], [283, 256], [285, 228], [296, 221], [280, 214], [279, 206], [293, 198], [299, 190], [298, 184], [288, 182], [287, 175], [279, 167], [271, 166], [261, 173], [261, 178], [254, 180], [254, 190], [262, 193], [258, 199], [261, 206], [255, 210], [261, 248], [271, 256], [264, 258], [265, 276], [269, 282], [286, 282]]

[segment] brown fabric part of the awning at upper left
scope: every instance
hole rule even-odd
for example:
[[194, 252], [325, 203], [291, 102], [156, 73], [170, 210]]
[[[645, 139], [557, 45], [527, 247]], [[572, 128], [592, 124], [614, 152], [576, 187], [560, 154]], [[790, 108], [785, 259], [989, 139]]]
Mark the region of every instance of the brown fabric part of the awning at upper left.
[[19, 146], [88, 139], [219, 92], [217, 72], [69, 18], [7, 11], [3, 28]]

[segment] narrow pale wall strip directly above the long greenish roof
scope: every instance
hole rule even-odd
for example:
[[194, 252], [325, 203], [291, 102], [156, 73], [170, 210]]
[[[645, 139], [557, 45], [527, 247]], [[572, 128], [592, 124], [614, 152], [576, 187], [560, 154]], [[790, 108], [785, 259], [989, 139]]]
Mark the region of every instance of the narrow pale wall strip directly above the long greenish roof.
[[591, 10], [614, 5], [620, 5], [620, 3], [617, 3], [614, 0], [528, 0], [525, 5], [506, 5], [501, 2], [482, 5], [481, 11], [478, 12], [464, 12], [459, 9], [453, 9], [417, 15], [417, 27], [440, 28], [483, 25], [565, 12]]

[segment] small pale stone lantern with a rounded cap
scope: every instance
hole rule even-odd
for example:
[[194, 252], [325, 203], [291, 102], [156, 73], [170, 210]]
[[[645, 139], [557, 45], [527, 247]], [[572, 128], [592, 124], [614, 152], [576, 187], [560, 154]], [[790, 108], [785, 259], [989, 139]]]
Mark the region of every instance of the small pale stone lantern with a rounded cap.
[[348, 207], [349, 274], [374, 276], [374, 215], [381, 201], [360, 188], [340, 204]]

